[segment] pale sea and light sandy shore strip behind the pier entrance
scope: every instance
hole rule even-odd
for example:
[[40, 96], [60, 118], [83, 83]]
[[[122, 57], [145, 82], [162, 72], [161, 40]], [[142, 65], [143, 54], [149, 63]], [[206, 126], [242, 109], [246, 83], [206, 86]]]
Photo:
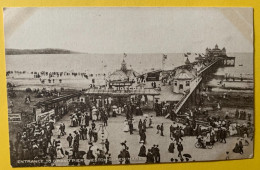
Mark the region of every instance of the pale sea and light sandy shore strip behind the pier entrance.
[[[39, 79], [33, 78], [31, 72], [74, 72], [86, 73], [88, 75], [110, 74], [120, 69], [123, 60], [127, 63], [128, 69], [133, 69], [138, 73], [145, 73], [152, 70], [171, 70], [174, 67], [183, 65], [186, 57], [183, 53], [165, 53], [167, 56], [163, 60], [163, 54], [30, 54], [30, 55], [7, 55], [6, 70], [22, 71], [25, 74], [12, 74], [7, 77], [7, 82], [16, 85], [16, 89], [24, 90], [30, 88], [88, 88], [91, 79], [84, 77], [63, 77], [62, 83], [56, 80], [55, 83], [42, 84]], [[253, 53], [230, 53], [228, 56], [236, 57], [235, 67], [219, 68], [215, 75], [229, 74], [240, 77], [241, 75], [253, 81], [254, 59]], [[197, 53], [189, 55], [190, 62], [195, 61]], [[164, 63], [164, 64], [163, 64]], [[48, 77], [42, 77], [48, 79]], [[75, 81], [76, 80], [76, 81]], [[96, 83], [105, 84], [104, 77], [95, 77]], [[47, 81], [46, 81], [47, 82]], [[210, 83], [217, 84], [218, 80]], [[238, 83], [235, 83], [237, 85]], [[231, 85], [233, 86], [234, 83]], [[250, 86], [253, 84], [242, 84], [240, 86]]]

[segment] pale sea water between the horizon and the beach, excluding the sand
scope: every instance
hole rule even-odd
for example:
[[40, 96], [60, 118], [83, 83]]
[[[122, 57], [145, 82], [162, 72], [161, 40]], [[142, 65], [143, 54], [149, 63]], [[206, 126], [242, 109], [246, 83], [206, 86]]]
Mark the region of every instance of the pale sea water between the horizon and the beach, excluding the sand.
[[[162, 64], [163, 54], [30, 54], [30, 55], [7, 55], [7, 71], [26, 72], [86, 72], [90, 74], [108, 73], [120, 69], [124, 59], [128, 68], [142, 73], [149, 70], [173, 69], [183, 65], [186, 58], [182, 53], [165, 53], [167, 59]], [[191, 62], [195, 61], [197, 53], [189, 55]], [[236, 57], [235, 67], [218, 69], [217, 75], [247, 75], [254, 73], [253, 53], [229, 53], [228, 56]]]

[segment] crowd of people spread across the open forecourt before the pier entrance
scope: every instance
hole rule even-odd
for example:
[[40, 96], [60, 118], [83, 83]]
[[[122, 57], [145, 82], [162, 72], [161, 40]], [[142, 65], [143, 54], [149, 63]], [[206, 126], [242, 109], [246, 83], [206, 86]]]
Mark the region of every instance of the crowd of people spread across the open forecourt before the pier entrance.
[[[146, 149], [146, 144], [148, 143], [146, 140], [147, 130], [148, 128], [155, 128], [157, 134], [163, 138], [165, 137], [165, 125], [160, 123], [154, 127], [153, 117], [144, 115], [140, 111], [142, 102], [141, 100], [137, 101], [126, 102], [117, 107], [113, 107], [109, 103], [100, 106], [93, 102], [84, 109], [75, 108], [72, 113], [69, 113], [70, 123], [68, 126], [70, 127], [66, 127], [63, 122], [55, 123], [54, 118], [50, 118], [45, 123], [36, 122], [28, 124], [21, 132], [17, 133], [14, 141], [10, 141], [12, 161], [17, 164], [18, 160], [34, 160], [35, 162], [26, 162], [21, 166], [47, 166], [55, 165], [57, 160], [64, 160], [67, 157], [68, 165], [130, 164], [130, 149], [126, 141], [121, 143], [122, 149], [117, 156], [118, 162], [112, 162], [108, 138], [104, 138], [104, 136], [99, 134], [100, 125], [102, 127], [108, 126], [108, 120], [111, 117], [121, 114], [126, 118], [125, 122], [122, 122], [124, 125], [123, 131], [129, 132], [129, 135], [134, 134], [135, 123], [137, 124], [141, 147], [139, 154], [134, 156], [146, 158], [146, 163], [159, 163], [161, 159], [159, 145], [153, 145], [150, 149]], [[118, 111], [119, 107], [120, 113]], [[196, 137], [201, 148], [207, 148], [207, 145], [214, 145], [216, 142], [224, 144], [228, 136], [237, 136], [239, 138], [233, 152], [243, 154], [243, 146], [246, 146], [243, 142], [248, 143], [248, 141], [243, 140], [252, 134], [250, 129], [252, 124], [239, 125], [238, 123], [232, 123], [226, 117], [208, 116], [205, 122], [200, 122], [196, 116], [205, 114], [205, 111], [200, 108], [195, 108], [183, 114], [175, 114], [170, 105], [156, 102], [154, 109], [157, 116], [171, 113], [173, 123], [169, 126], [170, 142], [168, 152], [177, 152], [180, 161], [189, 160], [182, 153], [185, 136]], [[165, 113], [163, 113], [164, 110]], [[143, 118], [138, 123], [135, 122], [134, 117], [141, 115], [143, 115]], [[240, 118], [243, 112], [237, 111], [236, 115], [238, 115], [236, 116], [237, 118]], [[181, 119], [182, 121], [180, 121]], [[99, 125], [97, 125], [97, 122]], [[73, 133], [67, 133], [69, 128], [76, 130]], [[57, 132], [54, 131], [55, 129]], [[57, 137], [53, 136], [54, 133], [57, 133]], [[168, 138], [168, 136], [166, 137]], [[61, 140], [64, 140], [64, 138], [67, 141], [66, 146], [62, 146], [64, 143]], [[89, 147], [87, 150], [80, 149], [81, 140], [88, 141]], [[100, 141], [102, 141], [102, 148], [98, 147], [98, 142]], [[178, 159], [173, 159], [173, 161], [176, 162]], [[19, 166], [19, 164], [17, 165]]]

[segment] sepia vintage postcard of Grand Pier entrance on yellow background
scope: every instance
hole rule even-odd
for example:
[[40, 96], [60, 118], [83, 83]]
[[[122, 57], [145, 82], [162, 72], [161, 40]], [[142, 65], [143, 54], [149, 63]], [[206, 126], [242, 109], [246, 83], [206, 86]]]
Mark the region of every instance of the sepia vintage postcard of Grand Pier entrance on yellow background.
[[13, 167], [252, 158], [252, 8], [5, 8]]

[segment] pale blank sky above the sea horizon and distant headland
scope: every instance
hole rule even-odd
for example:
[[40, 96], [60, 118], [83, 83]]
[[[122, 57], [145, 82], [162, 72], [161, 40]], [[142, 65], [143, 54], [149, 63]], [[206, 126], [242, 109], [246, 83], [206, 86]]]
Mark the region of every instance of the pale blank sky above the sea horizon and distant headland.
[[252, 8], [7, 8], [5, 48], [85, 53], [253, 52]]

